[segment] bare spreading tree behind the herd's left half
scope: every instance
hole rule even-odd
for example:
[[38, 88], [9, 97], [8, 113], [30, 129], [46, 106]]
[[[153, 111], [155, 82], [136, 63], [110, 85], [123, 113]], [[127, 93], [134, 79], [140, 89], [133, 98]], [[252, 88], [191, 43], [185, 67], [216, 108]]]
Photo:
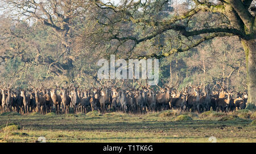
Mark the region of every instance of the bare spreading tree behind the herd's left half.
[[[40, 59], [42, 57], [40, 53], [43, 51], [38, 50], [37, 62], [47, 63], [49, 72], [55, 73], [57, 76], [70, 78], [75, 60], [73, 55], [76, 53], [73, 52], [74, 44], [81, 28], [84, 28], [79, 23], [87, 18], [86, 14], [90, 12], [90, 1], [3, 0], [2, 3], [1, 9], [11, 16], [12, 20], [26, 21], [30, 25], [34, 24], [35, 28], [38, 28], [38, 23], [40, 23], [44, 30], [51, 31], [51, 36], [56, 39], [54, 42], [59, 42], [61, 46], [53, 53], [53, 56], [48, 55], [47, 61]], [[48, 43], [48, 45], [50, 44]]]

